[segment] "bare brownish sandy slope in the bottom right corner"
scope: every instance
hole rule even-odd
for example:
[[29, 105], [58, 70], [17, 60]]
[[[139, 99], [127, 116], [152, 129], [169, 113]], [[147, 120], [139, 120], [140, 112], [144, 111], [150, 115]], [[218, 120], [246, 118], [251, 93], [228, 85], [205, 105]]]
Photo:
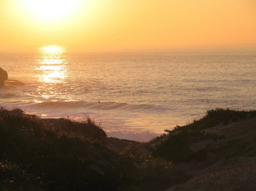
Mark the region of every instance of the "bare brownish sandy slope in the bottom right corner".
[[226, 139], [197, 143], [205, 160], [177, 164], [174, 170], [190, 178], [168, 191], [256, 190], [256, 118], [205, 131], [225, 134]]

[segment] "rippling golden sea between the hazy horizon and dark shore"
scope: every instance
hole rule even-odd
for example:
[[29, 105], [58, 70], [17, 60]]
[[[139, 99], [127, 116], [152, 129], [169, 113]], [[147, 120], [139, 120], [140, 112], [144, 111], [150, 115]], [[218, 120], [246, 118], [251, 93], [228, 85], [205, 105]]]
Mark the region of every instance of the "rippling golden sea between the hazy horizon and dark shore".
[[[74, 53], [59, 46], [0, 53], [0, 105], [43, 118], [85, 115], [109, 137], [148, 141], [216, 107], [256, 109], [256, 49]], [[100, 101], [100, 103], [98, 103]]]

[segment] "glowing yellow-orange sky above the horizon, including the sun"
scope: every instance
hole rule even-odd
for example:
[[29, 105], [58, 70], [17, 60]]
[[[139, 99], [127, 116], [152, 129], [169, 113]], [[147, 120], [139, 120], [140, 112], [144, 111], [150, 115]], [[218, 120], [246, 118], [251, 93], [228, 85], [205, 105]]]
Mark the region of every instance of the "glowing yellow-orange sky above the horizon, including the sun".
[[256, 44], [256, 0], [0, 0], [0, 50]]

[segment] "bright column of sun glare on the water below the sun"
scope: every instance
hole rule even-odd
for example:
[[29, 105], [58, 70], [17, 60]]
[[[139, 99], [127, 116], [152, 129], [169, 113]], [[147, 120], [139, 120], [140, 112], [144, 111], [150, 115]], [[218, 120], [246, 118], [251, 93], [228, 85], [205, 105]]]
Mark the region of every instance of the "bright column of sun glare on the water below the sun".
[[66, 49], [60, 46], [45, 46], [38, 48], [37, 53], [34, 78], [40, 83], [36, 93], [32, 93], [34, 101], [70, 100], [66, 89], [70, 77]]

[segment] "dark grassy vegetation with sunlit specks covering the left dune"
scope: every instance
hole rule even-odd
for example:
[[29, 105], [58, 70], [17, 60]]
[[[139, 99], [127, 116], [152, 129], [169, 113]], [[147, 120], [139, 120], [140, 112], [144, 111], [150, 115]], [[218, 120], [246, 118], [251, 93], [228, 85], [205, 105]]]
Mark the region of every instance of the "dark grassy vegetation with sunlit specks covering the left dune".
[[132, 145], [122, 152], [110, 149], [106, 133], [89, 117], [82, 123], [62, 120], [95, 133], [68, 137], [36, 115], [0, 109], [0, 190], [159, 190], [170, 186], [169, 162], [140, 155]]

